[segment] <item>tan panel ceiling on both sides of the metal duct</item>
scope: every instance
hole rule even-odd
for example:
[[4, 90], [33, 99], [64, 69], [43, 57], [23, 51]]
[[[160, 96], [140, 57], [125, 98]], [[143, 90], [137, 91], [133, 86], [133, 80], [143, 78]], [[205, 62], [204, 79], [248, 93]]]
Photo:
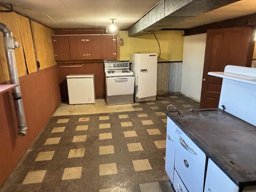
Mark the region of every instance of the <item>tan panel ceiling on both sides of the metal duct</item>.
[[[192, 0], [183, 0], [191, 2]], [[202, 0], [196, 0], [199, 4]], [[101, 29], [114, 24], [125, 30], [140, 20], [162, 0], [0, 0], [12, 4], [13, 10], [52, 29]], [[170, 2], [180, 3], [172, 0]], [[214, 2], [214, 1], [212, 1]], [[217, 2], [217, 1], [216, 1]], [[221, 1], [218, 1], [221, 2]], [[162, 20], [164, 28], [192, 28], [256, 13], [256, 0], [234, 3], [186, 17], [170, 25], [171, 18]]]

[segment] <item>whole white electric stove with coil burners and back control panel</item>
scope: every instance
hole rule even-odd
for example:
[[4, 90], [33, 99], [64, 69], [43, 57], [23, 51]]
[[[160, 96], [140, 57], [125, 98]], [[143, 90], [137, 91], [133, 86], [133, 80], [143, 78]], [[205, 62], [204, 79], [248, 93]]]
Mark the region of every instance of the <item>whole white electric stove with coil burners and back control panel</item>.
[[108, 105], [134, 103], [134, 76], [129, 61], [105, 61]]

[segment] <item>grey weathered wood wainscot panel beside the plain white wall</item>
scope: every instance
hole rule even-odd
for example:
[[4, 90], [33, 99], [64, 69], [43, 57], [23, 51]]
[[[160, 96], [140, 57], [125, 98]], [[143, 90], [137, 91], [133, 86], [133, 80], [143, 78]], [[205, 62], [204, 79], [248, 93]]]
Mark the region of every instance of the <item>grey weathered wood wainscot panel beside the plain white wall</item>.
[[170, 63], [169, 93], [180, 93], [182, 62]]

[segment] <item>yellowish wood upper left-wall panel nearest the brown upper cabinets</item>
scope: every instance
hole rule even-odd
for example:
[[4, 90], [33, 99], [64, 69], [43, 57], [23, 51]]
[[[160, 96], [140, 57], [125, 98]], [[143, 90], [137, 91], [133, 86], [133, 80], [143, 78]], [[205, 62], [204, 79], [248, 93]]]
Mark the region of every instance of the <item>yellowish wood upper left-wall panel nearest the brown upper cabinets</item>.
[[36, 52], [38, 61], [40, 62], [40, 69], [57, 64], [54, 60], [52, 44], [52, 35], [54, 34], [54, 31], [34, 21], [32, 22], [32, 25], [34, 29]]

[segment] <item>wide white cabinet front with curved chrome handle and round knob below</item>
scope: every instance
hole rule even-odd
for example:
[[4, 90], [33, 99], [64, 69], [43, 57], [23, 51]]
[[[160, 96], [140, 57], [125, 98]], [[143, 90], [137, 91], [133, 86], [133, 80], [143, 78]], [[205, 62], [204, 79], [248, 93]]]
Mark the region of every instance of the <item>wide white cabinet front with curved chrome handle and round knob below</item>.
[[205, 165], [204, 152], [177, 126], [174, 167], [188, 191], [203, 191]]

